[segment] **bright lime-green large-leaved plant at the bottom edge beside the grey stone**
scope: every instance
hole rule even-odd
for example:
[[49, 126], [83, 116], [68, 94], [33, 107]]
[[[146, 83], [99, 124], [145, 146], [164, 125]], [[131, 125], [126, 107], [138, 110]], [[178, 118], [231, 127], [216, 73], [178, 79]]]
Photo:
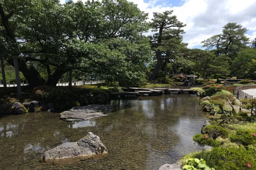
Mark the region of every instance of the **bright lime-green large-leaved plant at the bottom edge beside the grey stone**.
[[182, 170], [215, 170], [215, 169], [208, 167], [204, 159], [199, 160], [197, 158], [189, 158], [186, 160], [186, 163], [183, 166]]

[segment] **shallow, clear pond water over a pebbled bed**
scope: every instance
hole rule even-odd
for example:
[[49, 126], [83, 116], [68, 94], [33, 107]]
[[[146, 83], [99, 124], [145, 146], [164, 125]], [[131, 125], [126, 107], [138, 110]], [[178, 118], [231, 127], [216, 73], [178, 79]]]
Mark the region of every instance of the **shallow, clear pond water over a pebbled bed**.
[[[196, 95], [142, 96], [111, 101], [113, 112], [100, 119], [65, 122], [58, 113], [29, 113], [0, 119], [1, 170], [158, 170], [185, 153], [200, 150], [192, 136], [206, 118]], [[92, 132], [109, 156], [63, 166], [44, 165], [44, 151], [76, 142]]]

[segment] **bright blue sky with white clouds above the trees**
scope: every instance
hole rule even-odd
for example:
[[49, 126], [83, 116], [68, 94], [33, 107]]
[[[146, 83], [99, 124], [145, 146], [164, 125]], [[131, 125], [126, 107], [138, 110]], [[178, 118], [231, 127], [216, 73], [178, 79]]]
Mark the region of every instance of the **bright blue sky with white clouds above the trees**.
[[[65, 3], [68, 0], [60, 1]], [[187, 25], [183, 28], [186, 31], [183, 42], [189, 43], [189, 48], [201, 48], [203, 40], [221, 34], [222, 27], [231, 22], [249, 29], [247, 37], [251, 40], [256, 38], [256, 0], [128, 1], [137, 4], [141, 11], [148, 13], [149, 20], [153, 17], [153, 12], [173, 10], [177, 19]]]

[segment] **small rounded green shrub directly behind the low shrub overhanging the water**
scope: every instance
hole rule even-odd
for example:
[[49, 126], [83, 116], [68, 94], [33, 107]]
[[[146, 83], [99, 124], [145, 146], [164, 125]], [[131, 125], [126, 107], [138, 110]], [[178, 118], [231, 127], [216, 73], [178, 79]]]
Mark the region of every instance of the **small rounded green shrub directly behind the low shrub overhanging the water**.
[[222, 138], [228, 137], [227, 129], [218, 125], [209, 125], [204, 127], [203, 133], [208, 135], [212, 139], [217, 139], [219, 136], [221, 136]]

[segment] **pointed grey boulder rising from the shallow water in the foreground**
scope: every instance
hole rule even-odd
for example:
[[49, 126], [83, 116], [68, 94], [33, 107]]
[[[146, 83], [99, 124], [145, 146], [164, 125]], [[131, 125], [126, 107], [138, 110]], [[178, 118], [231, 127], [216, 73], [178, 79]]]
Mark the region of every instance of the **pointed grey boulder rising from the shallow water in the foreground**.
[[99, 139], [99, 136], [89, 132], [77, 142], [61, 144], [48, 150], [41, 157], [47, 164], [69, 164], [88, 158], [101, 158], [108, 156], [108, 150]]

